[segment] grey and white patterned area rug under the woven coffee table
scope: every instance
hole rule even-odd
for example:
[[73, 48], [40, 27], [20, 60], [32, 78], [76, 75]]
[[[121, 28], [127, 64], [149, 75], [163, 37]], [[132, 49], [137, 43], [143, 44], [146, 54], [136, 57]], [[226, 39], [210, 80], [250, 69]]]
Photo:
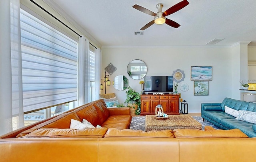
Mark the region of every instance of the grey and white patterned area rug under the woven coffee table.
[[[218, 127], [216, 127], [214, 124], [210, 123], [209, 121], [206, 121], [206, 120], [203, 121], [202, 117], [198, 117], [198, 116], [192, 116], [192, 117], [194, 119], [196, 119], [199, 123], [202, 124], [202, 130], [204, 130], [204, 127], [207, 125], [213, 127], [214, 129], [219, 129]], [[132, 117], [130, 129], [145, 131], [145, 118], [146, 118], [146, 116]]]

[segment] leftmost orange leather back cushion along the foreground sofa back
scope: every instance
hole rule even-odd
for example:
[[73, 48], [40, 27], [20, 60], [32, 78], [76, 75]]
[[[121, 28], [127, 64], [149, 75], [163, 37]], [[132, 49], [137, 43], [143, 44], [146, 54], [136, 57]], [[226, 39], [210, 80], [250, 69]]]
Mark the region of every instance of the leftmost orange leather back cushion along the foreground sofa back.
[[88, 128], [88, 129], [57, 129], [57, 128], [41, 128], [20, 138], [33, 137], [87, 137], [102, 138], [106, 134], [107, 128]]

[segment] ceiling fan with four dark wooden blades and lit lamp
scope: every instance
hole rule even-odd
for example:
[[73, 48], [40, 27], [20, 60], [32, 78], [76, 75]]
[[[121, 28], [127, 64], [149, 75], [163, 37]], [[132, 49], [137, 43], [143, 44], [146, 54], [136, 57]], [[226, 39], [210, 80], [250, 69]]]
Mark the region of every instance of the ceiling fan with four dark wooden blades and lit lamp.
[[154, 23], [156, 24], [163, 24], [166, 23], [167, 25], [170, 25], [172, 27], [178, 28], [180, 26], [180, 24], [176, 23], [175, 21], [172, 21], [168, 18], [166, 18], [166, 16], [173, 14], [174, 12], [177, 12], [178, 10], [181, 10], [182, 8], [184, 8], [185, 6], [187, 6], [189, 3], [187, 0], [183, 0], [177, 4], [175, 4], [174, 6], [170, 7], [168, 10], [166, 10], [165, 12], [162, 12], [162, 8], [163, 8], [163, 4], [159, 3], [156, 5], [156, 8], [158, 9], [157, 13], [154, 13], [142, 6], [139, 6], [137, 4], [135, 4], [134, 6], [132, 6], [133, 8], [144, 12], [145, 14], [154, 16], [154, 20], [150, 21], [149, 23], [147, 23], [144, 27], [142, 27], [140, 30], [145, 30], [148, 27], [150, 27], [151, 25], [153, 25]]

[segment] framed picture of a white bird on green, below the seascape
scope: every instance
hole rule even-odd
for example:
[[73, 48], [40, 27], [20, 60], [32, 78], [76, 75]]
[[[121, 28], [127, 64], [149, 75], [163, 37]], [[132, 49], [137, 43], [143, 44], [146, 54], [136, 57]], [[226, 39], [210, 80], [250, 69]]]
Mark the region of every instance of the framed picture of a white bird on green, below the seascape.
[[194, 81], [194, 96], [208, 96], [209, 82], [208, 81]]

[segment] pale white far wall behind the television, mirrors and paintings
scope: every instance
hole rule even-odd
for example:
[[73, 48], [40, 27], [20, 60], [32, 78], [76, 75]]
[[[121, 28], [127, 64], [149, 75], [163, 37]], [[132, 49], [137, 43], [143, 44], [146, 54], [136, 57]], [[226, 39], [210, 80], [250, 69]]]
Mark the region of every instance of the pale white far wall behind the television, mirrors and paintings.
[[[183, 82], [189, 85], [189, 90], [182, 92], [180, 84], [183, 82], [180, 82], [178, 91], [188, 102], [188, 112], [193, 113], [201, 112], [202, 102], [222, 102], [225, 97], [232, 98], [231, 58], [231, 48], [102, 48], [102, 74], [104, 74], [104, 68], [111, 62], [117, 70], [110, 75], [110, 80], [122, 74], [129, 79], [130, 86], [140, 92], [140, 80], [130, 78], [126, 72], [130, 61], [134, 59], [144, 61], [148, 67], [147, 75], [149, 76], [172, 75], [176, 69], [184, 70]], [[209, 96], [194, 96], [194, 82], [190, 80], [191, 66], [212, 66], [213, 76], [212, 81], [209, 81]], [[125, 91], [117, 91], [113, 86], [107, 86], [106, 93], [112, 92], [120, 102], [125, 101]], [[238, 94], [237, 99], [240, 99], [239, 91]]]

